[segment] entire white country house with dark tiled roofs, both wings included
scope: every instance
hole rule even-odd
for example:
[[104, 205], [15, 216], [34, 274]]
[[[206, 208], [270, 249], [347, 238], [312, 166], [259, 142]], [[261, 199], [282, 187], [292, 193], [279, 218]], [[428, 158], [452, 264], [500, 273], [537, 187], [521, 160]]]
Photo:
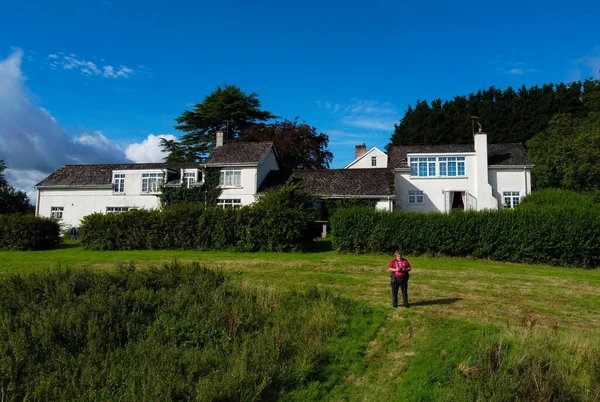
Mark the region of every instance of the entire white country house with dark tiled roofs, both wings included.
[[[363, 198], [380, 210], [449, 212], [454, 209], [512, 208], [531, 192], [532, 163], [521, 144], [488, 144], [485, 133], [473, 144], [356, 147], [344, 169], [295, 170], [319, 198]], [[381, 165], [381, 166], [380, 166]], [[120, 213], [159, 207], [161, 184], [203, 183], [205, 168], [220, 169], [224, 208], [249, 205], [290, 176], [279, 168], [271, 142], [230, 142], [217, 136], [202, 164], [144, 163], [66, 165], [36, 185], [38, 216], [79, 226], [95, 212]]]

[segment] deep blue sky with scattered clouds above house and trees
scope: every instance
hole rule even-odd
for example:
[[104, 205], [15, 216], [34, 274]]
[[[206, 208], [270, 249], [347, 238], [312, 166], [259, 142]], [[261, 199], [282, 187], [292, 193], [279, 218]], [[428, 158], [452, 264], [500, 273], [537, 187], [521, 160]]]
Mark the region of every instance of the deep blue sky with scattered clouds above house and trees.
[[[156, 158], [149, 135], [178, 135], [173, 119], [228, 83], [329, 134], [343, 167], [417, 99], [597, 77], [598, 15], [597, 1], [5, 2], [5, 114], [9, 87], [27, 107], [5, 116], [0, 159], [30, 188], [74, 160]], [[27, 156], [32, 130], [55, 157]]]

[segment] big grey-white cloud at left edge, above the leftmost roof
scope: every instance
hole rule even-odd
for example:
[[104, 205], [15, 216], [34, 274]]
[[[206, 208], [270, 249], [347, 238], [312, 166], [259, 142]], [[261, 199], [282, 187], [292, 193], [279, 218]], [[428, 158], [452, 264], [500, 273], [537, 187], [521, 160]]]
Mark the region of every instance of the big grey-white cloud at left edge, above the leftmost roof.
[[32, 191], [41, 178], [65, 164], [127, 162], [125, 152], [101, 132], [67, 134], [50, 112], [35, 105], [24, 85], [23, 52], [0, 60], [0, 159], [11, 184]]

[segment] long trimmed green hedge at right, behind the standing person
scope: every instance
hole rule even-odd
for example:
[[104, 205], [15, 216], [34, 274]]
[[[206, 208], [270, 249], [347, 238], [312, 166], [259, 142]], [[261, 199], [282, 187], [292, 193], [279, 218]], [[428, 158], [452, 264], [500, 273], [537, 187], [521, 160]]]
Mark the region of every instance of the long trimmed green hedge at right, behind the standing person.
[[332, 235], [341, 252], [393, 253], [400, 247], [408, 254], [600, 265], [600, 213], [588, 208], [451, 214], [352, 208], [332, 217]]

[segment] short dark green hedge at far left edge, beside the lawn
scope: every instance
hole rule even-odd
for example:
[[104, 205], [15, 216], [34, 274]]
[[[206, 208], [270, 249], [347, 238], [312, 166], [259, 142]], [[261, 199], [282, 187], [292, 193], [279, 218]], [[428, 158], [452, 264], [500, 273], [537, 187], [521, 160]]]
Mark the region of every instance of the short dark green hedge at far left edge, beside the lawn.
[[0, 250], [47, 250], [60, 243], [60, 225], [34, 215], [0, 215]]

